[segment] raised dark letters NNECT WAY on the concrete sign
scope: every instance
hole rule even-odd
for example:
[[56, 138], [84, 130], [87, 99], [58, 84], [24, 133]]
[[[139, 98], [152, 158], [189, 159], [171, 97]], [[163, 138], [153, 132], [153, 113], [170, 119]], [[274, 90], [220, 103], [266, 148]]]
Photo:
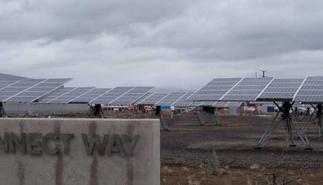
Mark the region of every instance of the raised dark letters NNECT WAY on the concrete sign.
[[[132, 157], [133, 150], [140, 135], [105, 134], [99, 135], [81, 134], [87, 155], [95, 152], [101, 156], [111, 156], [119, 153], [123, 157]], [[75, 138], [73, 133], [3, 133], [0, 137], [0, 150], [4, 153], [16, 153], [31, 155], [69, 155], [71, 140]]]

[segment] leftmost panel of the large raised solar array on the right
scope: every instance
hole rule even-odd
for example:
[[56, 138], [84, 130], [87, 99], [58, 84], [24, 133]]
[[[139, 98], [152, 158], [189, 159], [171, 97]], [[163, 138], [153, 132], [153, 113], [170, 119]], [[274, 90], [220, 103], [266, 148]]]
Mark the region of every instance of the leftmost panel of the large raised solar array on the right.
[[190, 96], [189, 100], [220, 100], [223, 95], [230, 91], [242, 78], [214, 78], [210, 83], [201, 87]]

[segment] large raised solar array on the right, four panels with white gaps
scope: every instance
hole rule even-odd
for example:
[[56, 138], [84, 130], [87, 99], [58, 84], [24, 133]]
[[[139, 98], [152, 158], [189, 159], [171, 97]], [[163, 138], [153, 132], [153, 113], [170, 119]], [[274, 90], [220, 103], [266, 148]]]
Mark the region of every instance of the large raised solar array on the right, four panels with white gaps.
[[[210, 106], [216, 101], [323, 102], [323, 76], [303, 78], [215, 78], [188, 100], [192, 107]], [[205, 102], [203, 102], [205, 101]], [[210, 102], [208, 102], [210, 101]]]

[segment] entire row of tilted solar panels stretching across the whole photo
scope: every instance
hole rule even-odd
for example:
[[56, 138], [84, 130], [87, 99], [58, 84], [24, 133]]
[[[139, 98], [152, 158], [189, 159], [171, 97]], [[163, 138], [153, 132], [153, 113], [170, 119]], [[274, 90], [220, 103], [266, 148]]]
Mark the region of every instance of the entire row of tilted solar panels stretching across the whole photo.
[[107, 105], [140, 104], [175, 107], [229, 107], [231, 105], [236, 107], [243, 101], [289, 100], [312, 104], [323, 102], [323, 76], [309, 76], [306, 79], [214, 78], [194, 94], [174, 92], [171, 94], [149, 94], [148, 96], [146, 95], [153, 87], [63, 88], [63, 85], [69, 80], [69, 78], [25, 78], [18, 81], [0, 79], [0, 101], [89, 102]]

